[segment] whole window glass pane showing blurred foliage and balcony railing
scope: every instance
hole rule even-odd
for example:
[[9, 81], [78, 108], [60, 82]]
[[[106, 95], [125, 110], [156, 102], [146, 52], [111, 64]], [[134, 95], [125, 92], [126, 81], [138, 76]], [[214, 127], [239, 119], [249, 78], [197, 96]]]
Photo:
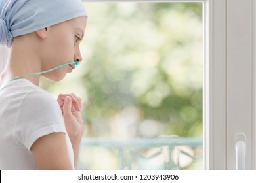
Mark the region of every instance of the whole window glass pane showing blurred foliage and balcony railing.
[[81, 169], [203, 169], [203, 3], [85, 3]]

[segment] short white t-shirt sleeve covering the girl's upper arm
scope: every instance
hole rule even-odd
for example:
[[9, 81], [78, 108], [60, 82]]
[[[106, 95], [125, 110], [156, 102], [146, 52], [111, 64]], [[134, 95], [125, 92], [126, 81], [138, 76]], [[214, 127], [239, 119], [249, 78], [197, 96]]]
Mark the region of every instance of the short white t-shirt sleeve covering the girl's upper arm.
[[16, 120], [16, 137], [30, 150], [33, 143], [51, 133], [66, 133], [64, 119], [57, 101], [45, 91], [24, 97]]

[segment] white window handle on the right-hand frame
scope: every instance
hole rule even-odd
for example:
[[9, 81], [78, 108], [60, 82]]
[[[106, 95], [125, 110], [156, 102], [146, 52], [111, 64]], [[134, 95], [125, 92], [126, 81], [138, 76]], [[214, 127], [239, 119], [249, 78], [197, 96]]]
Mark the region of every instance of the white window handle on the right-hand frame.
[[246, 137], [244, 133], [238, 133], [235, 137], [236, 169], [245, 170]]

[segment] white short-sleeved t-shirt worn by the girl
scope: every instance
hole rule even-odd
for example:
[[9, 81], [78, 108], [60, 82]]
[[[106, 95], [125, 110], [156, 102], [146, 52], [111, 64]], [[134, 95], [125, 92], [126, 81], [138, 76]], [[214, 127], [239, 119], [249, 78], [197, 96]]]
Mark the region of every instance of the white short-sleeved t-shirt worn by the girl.
[[32, 144], [44, 135], [65, 133], [70, 163], [72, 144], [57, 101], [26, 79], [0, 88], [0, 169], [37, 169]]

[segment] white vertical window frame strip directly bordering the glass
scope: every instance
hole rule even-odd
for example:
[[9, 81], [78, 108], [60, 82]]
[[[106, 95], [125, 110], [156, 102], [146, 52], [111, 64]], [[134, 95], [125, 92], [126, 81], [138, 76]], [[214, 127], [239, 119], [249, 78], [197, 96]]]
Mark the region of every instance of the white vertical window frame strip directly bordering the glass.
[[205, 169], [226, 169], [226, 0], [205, 1]]

